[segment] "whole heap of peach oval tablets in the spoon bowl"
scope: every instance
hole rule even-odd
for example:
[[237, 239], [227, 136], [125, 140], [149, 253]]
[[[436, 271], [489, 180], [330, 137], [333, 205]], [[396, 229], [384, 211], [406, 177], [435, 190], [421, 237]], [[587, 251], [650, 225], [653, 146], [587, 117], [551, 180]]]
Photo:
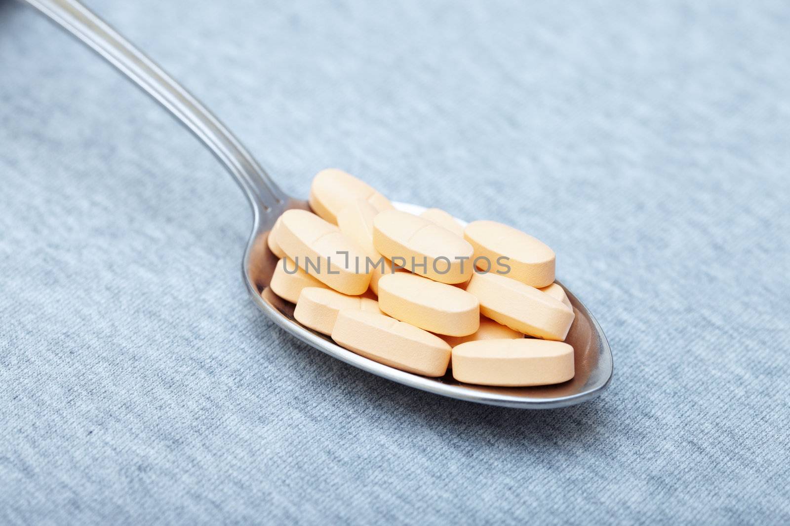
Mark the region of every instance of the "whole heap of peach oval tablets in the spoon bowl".
[[555, 253], [493, 221], [461, 226], [421, 215], [342, 170], [310, 187], [313, 212], [292, 209], [269, 232], [269, 283], [303, 326], [403, 371], [487, 386], [574, 377], [574, 322], [554, 282]]

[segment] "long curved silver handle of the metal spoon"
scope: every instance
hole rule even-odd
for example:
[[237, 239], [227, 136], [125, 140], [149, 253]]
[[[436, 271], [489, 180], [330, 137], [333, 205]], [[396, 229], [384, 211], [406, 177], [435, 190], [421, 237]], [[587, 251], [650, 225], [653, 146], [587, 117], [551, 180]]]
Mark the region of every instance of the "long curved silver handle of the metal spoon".
[[285, 196], [250, 152], [158, 65], [77, 0], [25, 0], [115, 65], [209, 147], [250, 199], [256, 218]]

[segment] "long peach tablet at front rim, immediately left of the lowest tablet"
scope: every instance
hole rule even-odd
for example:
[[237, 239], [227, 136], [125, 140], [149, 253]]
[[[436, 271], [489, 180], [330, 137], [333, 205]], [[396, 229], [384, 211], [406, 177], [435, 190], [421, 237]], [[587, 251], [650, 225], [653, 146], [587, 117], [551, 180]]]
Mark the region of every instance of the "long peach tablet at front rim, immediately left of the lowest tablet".
[[450, 345], [442, 338], [373, 312], [340, 311], [332, 339], [361, 356], [417, 375], [442, 376], [450, 361]]

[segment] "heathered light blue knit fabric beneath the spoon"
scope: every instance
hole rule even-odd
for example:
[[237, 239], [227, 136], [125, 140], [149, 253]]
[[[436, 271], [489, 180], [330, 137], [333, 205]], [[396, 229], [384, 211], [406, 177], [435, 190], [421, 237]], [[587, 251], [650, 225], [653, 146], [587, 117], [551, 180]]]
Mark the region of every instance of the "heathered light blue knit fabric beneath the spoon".
[[88, 5], [288, 192], [546, 241], [615, 378], [525, 412], [295, 341], [209, 152], [2, 0], [0, 522], [790, 522], [787, 2]]

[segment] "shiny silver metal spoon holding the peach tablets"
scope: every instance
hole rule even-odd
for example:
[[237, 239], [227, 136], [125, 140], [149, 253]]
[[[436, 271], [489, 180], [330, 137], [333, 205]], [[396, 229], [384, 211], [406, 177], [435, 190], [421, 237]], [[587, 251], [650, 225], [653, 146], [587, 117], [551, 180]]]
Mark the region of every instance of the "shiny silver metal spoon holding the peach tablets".
[[[581, 301], [567, 292], [576, 312], [566, 341], [573, 345], [576, 375], [553, 386], [491, 387], [457, 382], [451, 375], [427, 378], [399, 371], [359, 356], [336, 345], [294, 319], [294, 305], [269, 289], [276, 256], [269, 251], [266, 237], [276, 218], [289, 208], [309, 210], [305, 200], [287, 196], [271, 177], [201, 103], [164, 73], [126, 39], [76, 0], [25, 0], [60, 24], [115, 65], [130, 80], [170, 110], [222, 162], [250, 200], [253, 229], [242, 262], [247, 290], [258, 308], [274, 323], [318, 350], [394, 382], [459, 400], [513, 408], [558, 408], [578, 404], [600, 394], [611, 379], [611, 350], [603, 331]], [[424, 207], [394, 203], [403, 211], [419, 214]], [[563, 287], [564, 288], [564, 287]], [[566, 289], [567, 291], [567, 289]]]

